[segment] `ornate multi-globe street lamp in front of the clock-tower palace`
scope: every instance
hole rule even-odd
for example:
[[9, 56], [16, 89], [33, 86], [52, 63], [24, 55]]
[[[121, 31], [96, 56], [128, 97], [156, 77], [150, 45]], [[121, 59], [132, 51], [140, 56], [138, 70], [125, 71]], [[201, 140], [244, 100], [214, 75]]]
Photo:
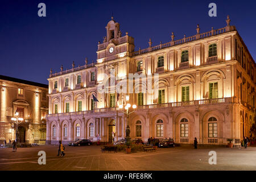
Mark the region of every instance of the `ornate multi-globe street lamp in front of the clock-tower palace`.
[[125, 139], [126, 139], [126, 145], [130, 146], [130, 143], [131, 143], [130, 132], [131, 132], [131, 130], [130, 130], [130, 127], [129, 127], [129, 115], [136, 111], [137, 105], [134, 104], [131, 108], [131, 104], [128, 103], [129, 100], [130, 100], [130, 96], [127, 95], [127, 96], [125, 96], [125, 98], [126, 98], [126, 104], [125, 104], [125, 101], [123, 101], [123, 104], [119, 105], [119, 110], [121, 110], [123, 113], [126, 114], [127, 126], [126, 126], [126, 130], [125, 130], [125, 132], [126, 132]]

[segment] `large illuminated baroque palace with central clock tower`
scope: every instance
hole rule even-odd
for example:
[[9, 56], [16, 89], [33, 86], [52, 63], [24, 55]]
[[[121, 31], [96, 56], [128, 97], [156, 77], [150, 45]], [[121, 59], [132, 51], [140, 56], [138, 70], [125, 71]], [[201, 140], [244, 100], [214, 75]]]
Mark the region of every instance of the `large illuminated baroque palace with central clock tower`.
[[[106, 37], [98, 42], [96, 63], [79, 65], [49, 75], [47, 141], [67, 143], [75, 139], [112, 142], [130, 137], [174, 138], [176, 143], [225, 144], [226, 139], [250, 136], [255, 121], [255, 62], [236, 27], [230, 26], [134, 51], [134, 38], [122, 36], [112, 18]], [[98, 87], [114, 68], [116, 79], [108, 80], [109, 93]], [[105, 73], [105, 76], [102, 74]], [[125, 93], [113, 91], [120, 82], [129, 82], [129, 73], [152, 77], [153, 84], [133, 85], [128, 93], [137, 105], [127, 121], [117, 107]], [[158, 80], [154, 77], [158, 75]], [[146, 78], [140, 78], [141, 80]], [[136, 80], [136, 79], [135, 79]], [[134, 80], [130, 80], [135, 82]], [[122, 85], [122, 84], [121, 84]], [[158, 85], [157, 92], [148, 89]], [[143, 86], [146, 92], [142, 92]], [[97, 98], [97, 101], [95, 98]]]

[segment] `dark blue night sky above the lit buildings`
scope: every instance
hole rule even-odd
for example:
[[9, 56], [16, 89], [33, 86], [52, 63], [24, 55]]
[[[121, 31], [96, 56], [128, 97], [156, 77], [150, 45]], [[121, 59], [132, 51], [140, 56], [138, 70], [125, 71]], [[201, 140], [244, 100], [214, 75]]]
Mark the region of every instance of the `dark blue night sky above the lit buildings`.
[[[46, 3], [46, 17], [38, 4]], [[208, 5], [217, 4], [217, 17], [208, 16]], [[0, 75], [48, 84], [53, 73], [96, 60], [97, 44], [106, 36], [111, 19], [120, 23], [122, 35], [134, 37], [135, 50], [170, 42], [211, 27], [226, 26], [226, 15], [237, 27], [251, 55], [256, 57], [256, 1], [60, 1], [1, 0]]]

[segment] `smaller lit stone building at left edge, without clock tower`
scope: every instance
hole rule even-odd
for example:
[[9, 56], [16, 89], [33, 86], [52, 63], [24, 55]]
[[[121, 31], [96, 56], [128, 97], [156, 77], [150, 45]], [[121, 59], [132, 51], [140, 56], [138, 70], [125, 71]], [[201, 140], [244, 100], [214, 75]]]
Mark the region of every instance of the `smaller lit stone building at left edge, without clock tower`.
[[[48, 85], [0, 75], [0, 141], [46, 144]], [[15, 115], [17, 113], [18, 115]], [[17, 125], [13, 119], [22, 118]]]

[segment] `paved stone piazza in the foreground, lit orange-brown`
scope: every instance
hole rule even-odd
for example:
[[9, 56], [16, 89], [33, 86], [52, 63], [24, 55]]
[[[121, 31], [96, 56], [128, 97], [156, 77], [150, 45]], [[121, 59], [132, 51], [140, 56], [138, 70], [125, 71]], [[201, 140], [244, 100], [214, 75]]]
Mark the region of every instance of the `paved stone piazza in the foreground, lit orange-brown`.
[[[0, 148], [0, 170], [255, 170], [256, 146], [244, 148], [158, 148], [156, 152], [100, 151], [100, 146], [65, 147], [65, 156], [56, 156], [57, 146]], [[46, 152], [46, 165], [38, 164], [38, 151]], [[216, 151], [217, 164], [210, 165], [209, 151]]]

